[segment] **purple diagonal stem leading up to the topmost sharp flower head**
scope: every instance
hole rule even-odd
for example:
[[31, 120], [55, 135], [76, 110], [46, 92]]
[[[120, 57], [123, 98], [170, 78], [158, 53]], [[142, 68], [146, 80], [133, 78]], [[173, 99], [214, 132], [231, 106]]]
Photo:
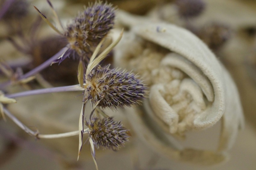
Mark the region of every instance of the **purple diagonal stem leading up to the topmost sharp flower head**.
[[[42, 71], [43, 69], [45, 69], [46, 67], [50, 66], [51, 63], [55, 60], [58, 59], [63, 53], [65, 53], [67, 51], [67, 47], [64, 47], [63, 49], [61, 49], [58, 53], [56, 53], [54, 56], [52, 56], [51, 58], [49, 58], [48, 60], [46, 60], [45, 62], [43, 62], [41, 65], [37, 66], [36, 68], [34, 68], [33, 70], [30, 70], [29, 72], [27, 72], [24, 75], [21, 75], [19, 77], [19, 79], [17, 81], [20, 81], [22, 79], [28, 78], [30, 76], [35, 75], [36, 73]], [[12, 81], [7, 81], [5, 83], [0, 84], [0, 89], [3, 89], [9, 85], [11, 85], [13, 82]]]

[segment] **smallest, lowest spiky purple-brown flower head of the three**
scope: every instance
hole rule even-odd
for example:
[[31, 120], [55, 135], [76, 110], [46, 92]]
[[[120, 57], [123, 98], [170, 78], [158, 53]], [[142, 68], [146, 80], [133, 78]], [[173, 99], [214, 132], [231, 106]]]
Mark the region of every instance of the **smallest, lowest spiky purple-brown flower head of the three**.
[[128, 130], [119, 122], [112, 118], [92, 118], [91, 122], [86, 122], [89, 127], [89, 136], [92, 138], [97, 148], [104, 147], [105, 149], [117, 150], [126, 141], [128, 141]]

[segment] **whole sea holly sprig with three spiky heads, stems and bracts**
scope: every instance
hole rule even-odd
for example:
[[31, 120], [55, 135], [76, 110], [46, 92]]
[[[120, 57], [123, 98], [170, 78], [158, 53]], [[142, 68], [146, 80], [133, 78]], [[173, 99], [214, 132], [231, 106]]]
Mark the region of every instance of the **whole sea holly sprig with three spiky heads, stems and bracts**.
[[[51, 2], [48, 1], [48, 3], [64, 31], [65, 29], [62, 26], [55, 10], [53, 9]], [[94, 5], [90, 5], [83, 13], [79, 14], [74, 22], [67, 27], [64, 33], [59, 31], [52, 23], [50, 23], [46, 16], [37, 8], [36, 10], [39, 12], [43, 20], [45, 20], [56, 32], [66, 37], [69, 42], [67, 47], [63, 49], [65, 50], [64, 52], [61, 50], [56, 54], [56, 56], [60, 56], [60, 54], [62, 55], [59, 59], [55, 60], [55, 62], [60, 63], [70, 54], [74, 54], [75, 58], [80, 59], [77, 71], [79, 85], [28, 90], [15, 94], [6, 94], [5, 96], [2, 96], [3, 99], [0, 102], [6, 103], [7, 100], [8, 103], [15, 102], [16, 100], [13, 98], [23, 96], [82, 90], [84, 100], [80, 113], [79, 130], [63, 134], [42, 135], [39, 134], [38, 131], [30, 130], [16, 117], [14, 117], [8, 111], [8, 109], [0, 107], [0, 111], [11, 118], [11, 120], [20, 126], [20, 128], [36, 138], [61, 138], [79, 134], [79, 154], [82, 148], [83, 134], [86, 132], [89, 133], [89, 141], [91, 143], [93, 154], [92, 156], [95, 161], [94, 146], [97, 148], [102, 146], [116, 150], [126, 141], [128, 141], [129, 137], [128, 130], [125, 129], [120, 122], [116, 122], [112, 118], [109, 118], [103, 111], [101, 114], [105, 116], [105, 118], [92, 118], [94, 111], [100, 110], [96, 107], [100, 106], [101, 108], [117, 108], [118, 106], [124, 107], [126, 105], [131, 106], [133, 104], [141, 103], [141, 99], [143, 99], [145, 95], [145, 85], [143, 84], [142, 80], [138, 79], [138, 75], [135, 75], [132, 72], [122, 71], [121, 69], [110, 69], [110, 65], [105, 67], [99, 66], [99, 63], [120, 41], [123, 34], [122, 31], [120, 36], [114, 40], [111, 45], [103, 50], [102, 53], [98, 54], [104, 42], [105, 36], [108, 34], [109, 30], [112, 29], [114, 24], [114, 8], [111, 5], [107, 5], [107, 3], [103, 4], [102, 2], [96, 2]], [[51, 59], [56, 59], [56, 56], [55, 58], [53, 56]], [[49, 65], [51, 59], [47, 60], [36, 69], [33, 69], [33, 71], [25, 74], [23, 78], [18, 78], [18, 80], [23, 80], [26, 77], [30, 77], [36, 72], [41, 71], [43, 68], [45, 68], [45, 65]], [[88, 62], [86, 69], [84, 67], [83, 60], [87, 60]], [[6, 87], [8, 83], [9, 82], [5, 83], [2, 87]], [[84, 129], [85, 105], [89, 100], [93, 104], [93, 109], [90, 114], [89, 123], [86, 122], [89, 129]], [[95, 165], [98, 169], [96, 161]]]

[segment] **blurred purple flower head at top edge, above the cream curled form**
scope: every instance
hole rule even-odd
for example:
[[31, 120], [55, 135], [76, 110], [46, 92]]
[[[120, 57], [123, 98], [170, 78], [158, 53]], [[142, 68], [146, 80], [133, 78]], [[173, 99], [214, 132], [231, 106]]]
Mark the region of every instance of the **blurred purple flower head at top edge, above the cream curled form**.
[[196, 17], [204, 11], [205, 3], [202, 0], [176, 0], [181, 17]]

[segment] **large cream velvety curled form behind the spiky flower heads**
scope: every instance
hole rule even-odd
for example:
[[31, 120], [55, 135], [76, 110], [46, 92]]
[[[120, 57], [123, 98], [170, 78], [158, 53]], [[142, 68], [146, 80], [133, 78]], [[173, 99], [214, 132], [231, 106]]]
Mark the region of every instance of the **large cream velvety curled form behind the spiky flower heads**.
[[[139, 73], [149, 85], [143, 106], [126, 110], [138, 136], [171, 159], [205, 165], [226, 160], [244, 122], [229, 73], [186, 29], [122, 11], [118, 16], [129, 31], [115, 48], [115, 64]], [[218, 121], [221, 132], [215, 151], [184, 148], [176, 141]]]

